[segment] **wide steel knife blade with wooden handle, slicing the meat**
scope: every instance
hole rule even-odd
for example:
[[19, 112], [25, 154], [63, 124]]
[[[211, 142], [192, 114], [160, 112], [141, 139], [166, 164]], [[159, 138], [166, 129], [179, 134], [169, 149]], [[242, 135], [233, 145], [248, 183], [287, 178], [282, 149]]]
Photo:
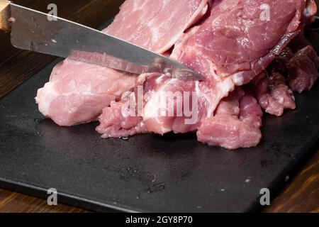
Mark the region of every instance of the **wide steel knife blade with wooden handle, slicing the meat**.
[[11, 1], [0, 0], [0, 30], [11, 30], [11, 44], [22, 50], [69, 57], [133, 74], [160, 72], [178, 79], [205, 79], [169, 57]]

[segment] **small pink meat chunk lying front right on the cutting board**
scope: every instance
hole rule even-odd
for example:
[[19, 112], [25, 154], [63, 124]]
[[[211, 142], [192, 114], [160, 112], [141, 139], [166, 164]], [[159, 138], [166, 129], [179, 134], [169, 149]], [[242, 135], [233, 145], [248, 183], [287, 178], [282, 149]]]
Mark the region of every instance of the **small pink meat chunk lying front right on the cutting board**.
[[262, 109], [257, 100], [237, 88], [220, 101], [215, 116], [202, 121], [197, 138], [202, 143], [228, 149], [250, 148], [262, 138], [261, 122]]

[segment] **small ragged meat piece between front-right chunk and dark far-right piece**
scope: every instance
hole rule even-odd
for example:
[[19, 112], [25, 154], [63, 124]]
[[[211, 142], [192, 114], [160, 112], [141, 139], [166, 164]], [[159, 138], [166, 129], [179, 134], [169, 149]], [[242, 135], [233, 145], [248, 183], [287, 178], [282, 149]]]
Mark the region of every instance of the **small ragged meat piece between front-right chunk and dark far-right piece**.
[[254, 81], [254, 89], [260, 106], [268, 114], [281, 116], [285, 109], [296, 109], [293, 92], [286, 86], [286, 79], [278, 72], [260, 74]]

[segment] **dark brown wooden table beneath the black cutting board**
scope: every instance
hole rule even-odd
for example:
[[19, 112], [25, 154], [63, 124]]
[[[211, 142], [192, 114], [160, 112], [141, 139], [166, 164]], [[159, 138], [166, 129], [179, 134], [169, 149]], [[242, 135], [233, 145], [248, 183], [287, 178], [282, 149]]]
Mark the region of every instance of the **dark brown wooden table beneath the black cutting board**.
[[[16, 0], [16, 4], [47, 11], [57, 4], [58, 15], [98, 27], [118, 11], [121, 1], [111, 0]], [[0, 98], [45, 67], [54, 57], [16, 50], [9, 34], [0, 33]], [[16, 67], [18, 65], [18, 67]], [[291, 177], [265, 212], [319, 212], [319, 151]], [[89, 212], [72, 206], [48, 206], [43, 199], [0, 189], [0, 212]]]

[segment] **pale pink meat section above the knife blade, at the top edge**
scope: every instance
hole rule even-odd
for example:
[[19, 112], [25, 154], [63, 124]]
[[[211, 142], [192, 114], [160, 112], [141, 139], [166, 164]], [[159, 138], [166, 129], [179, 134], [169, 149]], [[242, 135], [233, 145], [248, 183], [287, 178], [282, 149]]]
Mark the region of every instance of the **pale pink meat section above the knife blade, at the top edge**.
[[207, 0], [127, 0], [104, 32], [162, 53], [207, 9]]

